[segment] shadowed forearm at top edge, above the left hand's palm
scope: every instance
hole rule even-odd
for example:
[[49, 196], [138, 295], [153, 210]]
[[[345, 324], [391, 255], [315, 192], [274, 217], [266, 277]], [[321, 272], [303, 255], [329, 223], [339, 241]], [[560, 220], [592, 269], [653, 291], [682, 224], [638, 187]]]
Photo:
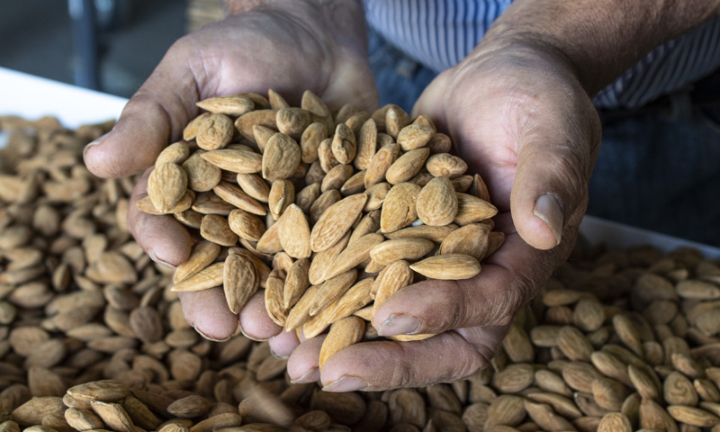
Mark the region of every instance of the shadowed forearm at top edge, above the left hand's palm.
[[225, 0], [228, 14], [253, 9], [282, 10], [307, 25], [322, 27], [339, 45], [367, 54], [365, 9], [362, 0]]

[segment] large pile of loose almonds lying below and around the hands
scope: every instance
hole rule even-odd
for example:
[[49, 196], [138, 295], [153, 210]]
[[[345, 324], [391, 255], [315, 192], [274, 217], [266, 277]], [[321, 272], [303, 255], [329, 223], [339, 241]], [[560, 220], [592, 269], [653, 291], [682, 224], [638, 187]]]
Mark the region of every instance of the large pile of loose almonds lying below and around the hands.
[[0, 117], [2, 432], [720, 429], [720, 266], [691, 249], [578, 254], [466, 380], [291, 384], [267, 343], [188, 326], [127, 231], [132, 179], [82, 166], [110, 126]]

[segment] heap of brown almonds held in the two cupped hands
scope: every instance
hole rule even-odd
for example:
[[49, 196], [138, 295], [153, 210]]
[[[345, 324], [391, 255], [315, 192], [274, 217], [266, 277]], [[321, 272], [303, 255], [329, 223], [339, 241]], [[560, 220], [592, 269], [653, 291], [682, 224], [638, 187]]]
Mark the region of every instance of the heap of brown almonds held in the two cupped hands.
[[272, 90], [198, 106], [207, 112], [160, 153], [137, 203], [203, 238], [173, 290], [222, 285], [238, 312], [265, 289], [287, 331], [333, 325], [323, 359], [373, 331], [365, 321], [392, 293], [473, 277], [504, 240], [482, 178], [426, 116], [392, 104], [330, 112], [310, 91], [300, 108]]

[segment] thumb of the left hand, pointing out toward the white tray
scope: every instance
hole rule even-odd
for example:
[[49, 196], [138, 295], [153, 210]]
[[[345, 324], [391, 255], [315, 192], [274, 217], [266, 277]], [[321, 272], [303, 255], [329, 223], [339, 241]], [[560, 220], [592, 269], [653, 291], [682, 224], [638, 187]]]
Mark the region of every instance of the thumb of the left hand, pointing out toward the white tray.
[[85, 148], [85, 165], [94, 175], [122, 177], [151, 166], [157, 154], [179, 139], [195, 115], [198, 101], [194, 75], [178, 40], [122, 110], [112, 130]]

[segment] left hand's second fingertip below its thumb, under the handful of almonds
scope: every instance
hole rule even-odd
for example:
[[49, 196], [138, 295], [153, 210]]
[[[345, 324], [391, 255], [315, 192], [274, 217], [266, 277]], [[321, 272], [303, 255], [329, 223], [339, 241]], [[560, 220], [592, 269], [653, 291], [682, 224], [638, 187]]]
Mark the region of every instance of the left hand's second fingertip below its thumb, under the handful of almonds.
[[229, 310], [222, 288], [177, 293], [185, 320], [204, 338], [229, 339], [238, 329], [238, 316]]

